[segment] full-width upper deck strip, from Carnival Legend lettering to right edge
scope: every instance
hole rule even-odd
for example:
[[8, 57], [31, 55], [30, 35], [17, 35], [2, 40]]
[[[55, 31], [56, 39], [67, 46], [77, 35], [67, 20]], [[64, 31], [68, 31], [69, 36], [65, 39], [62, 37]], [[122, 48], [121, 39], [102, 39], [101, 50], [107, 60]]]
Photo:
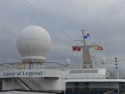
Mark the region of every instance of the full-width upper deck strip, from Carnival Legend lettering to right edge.
[[[117, 79], [116, 72], [106, 69], [69, 69], [67, 65], [57, 62], [46, 63], [5, 63], [0, 64], [0, 78], [9, 77], [61, 77], [67, 79]], [[125, 75], [119, 74], [119, 79]]]

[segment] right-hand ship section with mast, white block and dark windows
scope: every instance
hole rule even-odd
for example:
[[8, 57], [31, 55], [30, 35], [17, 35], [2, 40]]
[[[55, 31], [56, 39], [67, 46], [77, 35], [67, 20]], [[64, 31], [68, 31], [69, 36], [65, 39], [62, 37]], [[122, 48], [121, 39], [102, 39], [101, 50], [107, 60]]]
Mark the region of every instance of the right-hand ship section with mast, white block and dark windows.
[[[82, 36], [84, 36], [84, 30]], [[91, 59], [89, 49], [103, 48], [97, 44], [87, 45], [83, 37], [83, 68], [70, 69], [66, 80], [66, 94], [125, 94], [125, 79], [118, 74], [118, 70], [110, 72], [106, 68], [96, 68]], [[119, 77], [120, 76], [120, 77]]]

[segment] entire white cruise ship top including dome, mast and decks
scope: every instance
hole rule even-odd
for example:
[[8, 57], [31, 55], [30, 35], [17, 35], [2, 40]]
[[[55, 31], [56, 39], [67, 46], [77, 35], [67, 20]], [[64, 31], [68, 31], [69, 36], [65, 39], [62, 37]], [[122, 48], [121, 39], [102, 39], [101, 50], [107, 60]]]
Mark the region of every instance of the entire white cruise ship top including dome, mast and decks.
[[125, 94], [117, 65], [116, 72], [94, 67], [89, 49], [99, 45], [88, 45], [84, 37], [82, 42], [77, 50], [83, 51], [83, 66], [69, 69], [69, 59], [67, 65], [46, 62], [51, 38], [45, 29], [24, 28], [17, 39], [22, 62], [0, 64], [0, 94]]

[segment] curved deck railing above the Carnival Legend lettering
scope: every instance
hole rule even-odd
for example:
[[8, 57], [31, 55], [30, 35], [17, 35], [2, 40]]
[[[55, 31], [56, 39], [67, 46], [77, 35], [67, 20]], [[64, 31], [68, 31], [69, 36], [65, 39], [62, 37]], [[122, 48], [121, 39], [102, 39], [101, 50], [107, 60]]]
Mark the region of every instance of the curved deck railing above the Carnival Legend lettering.
[[65, 70], [67, 66], [64, 64], [60, 64], [57, 62], [42, 62], [42, 63], [22, 63], [22, 62], [14, 62], [14, 63], [5, 63], [0, 64], [0, 71], [4, 70], [16, 70], [16, 69], [58, 69]]

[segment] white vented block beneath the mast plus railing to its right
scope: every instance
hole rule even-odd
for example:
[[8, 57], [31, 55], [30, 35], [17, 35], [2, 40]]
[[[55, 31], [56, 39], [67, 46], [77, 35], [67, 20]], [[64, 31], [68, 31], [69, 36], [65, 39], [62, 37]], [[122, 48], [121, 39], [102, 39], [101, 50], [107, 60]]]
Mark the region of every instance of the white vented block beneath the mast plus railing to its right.
[[[115, 72], [106, 69], [71, 69], [69, 73], [72, 79], [118, 79]], [[119, 79], [125, 79], [125, 75], [119, 73]]]

